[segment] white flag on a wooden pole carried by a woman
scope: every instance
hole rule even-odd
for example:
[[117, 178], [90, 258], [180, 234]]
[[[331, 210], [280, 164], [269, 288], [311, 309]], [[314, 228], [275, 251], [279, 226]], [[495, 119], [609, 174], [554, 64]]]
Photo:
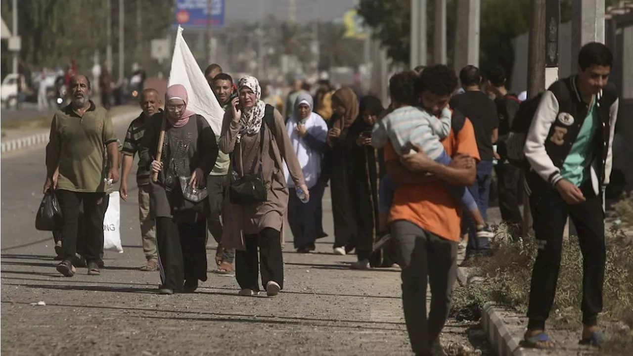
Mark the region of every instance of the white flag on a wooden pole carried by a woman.
[[204, 73], [198, 67], [196, 58], [187, 46], [187, 42], [182, 37], [182, 27], [180, 26], [173, 48], [172, 70], [169, 73], [168, 85], [173, 86], [173, 84], [182, 84], [187, 89], [187, 95], [189, 95], [187, 109], [206, 118], [215, 135], [220, 136], [224, 110], [206, 82]]

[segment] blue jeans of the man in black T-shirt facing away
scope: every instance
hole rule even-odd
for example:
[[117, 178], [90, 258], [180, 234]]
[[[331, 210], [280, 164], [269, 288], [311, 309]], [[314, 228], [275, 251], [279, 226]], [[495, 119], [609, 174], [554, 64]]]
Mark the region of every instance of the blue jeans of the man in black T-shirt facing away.
[[[492, 161], [481, 161], [477, 163], [477, 175], [475, 183], [468, 187], [470, 194], [473, 195], [479, 207], [482, 218], [486, 220], [486, 210], [488, 210], [488, 202], [490, 196], [490, 183], [492, 181]], [[477, 238], [477, 226], [470, 215], [465, 212], [461, 217], [462, 231], [468, 229], [468, 246], [466, 253], [477, 253], [490, 249], [487, 238]]]

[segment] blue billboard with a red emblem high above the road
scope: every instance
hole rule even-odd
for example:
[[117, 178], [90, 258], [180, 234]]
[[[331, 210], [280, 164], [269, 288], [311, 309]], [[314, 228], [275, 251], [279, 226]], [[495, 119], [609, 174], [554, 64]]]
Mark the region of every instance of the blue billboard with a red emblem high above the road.
[[211, 1], [213, 27], [222, 27], [224, 25], [224, 0], [176, 0], [176, 6], [173, 10], [173, 25], [206, 27], [209, 21], [207, 1]]

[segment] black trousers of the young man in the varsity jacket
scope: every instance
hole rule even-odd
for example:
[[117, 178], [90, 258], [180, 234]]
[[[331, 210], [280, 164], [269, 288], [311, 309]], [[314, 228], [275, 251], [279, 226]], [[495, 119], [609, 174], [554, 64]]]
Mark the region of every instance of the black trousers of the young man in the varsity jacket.
[[581, 187], [586, 201], [568, 205], [555, 190], [530, 195], [539, 251], [532, 270], [527, 310], [529, 329], [544, 329], [554, 303], [560, 270], [563, 229], [571, 217], [582, 252], [582, 323], [594, 326], [602, 310], [605, 281], [605, 214], [591, 184]]

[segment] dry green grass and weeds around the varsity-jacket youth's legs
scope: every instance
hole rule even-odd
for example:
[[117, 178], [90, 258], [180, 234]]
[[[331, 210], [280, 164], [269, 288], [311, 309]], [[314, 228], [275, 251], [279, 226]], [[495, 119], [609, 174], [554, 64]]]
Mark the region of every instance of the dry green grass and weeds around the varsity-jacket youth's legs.
[[[631, 210], [633, 212], [633, 210]], [[534, 238], [513, 241], [505, 228], [491, 241], [494, 255], [475, 262], [470, 276], [484, 277], [454, 291], [451, 315], [457, 319], [478, 320], [486, 302], [504, 305], [518, 312], [527, 310], [532, 265], [537, 246]], [[576, 236], [563, 239], [560, 274], [549, 324], [567, 329], [580, 326], [582, 297], [582, 255]], [[606, 234], [604, 315], [613, 321], [633, 310], [633, 242], [624, 232], [611, 229]], [[633, 317], [631, 318], [633, 319]]]

